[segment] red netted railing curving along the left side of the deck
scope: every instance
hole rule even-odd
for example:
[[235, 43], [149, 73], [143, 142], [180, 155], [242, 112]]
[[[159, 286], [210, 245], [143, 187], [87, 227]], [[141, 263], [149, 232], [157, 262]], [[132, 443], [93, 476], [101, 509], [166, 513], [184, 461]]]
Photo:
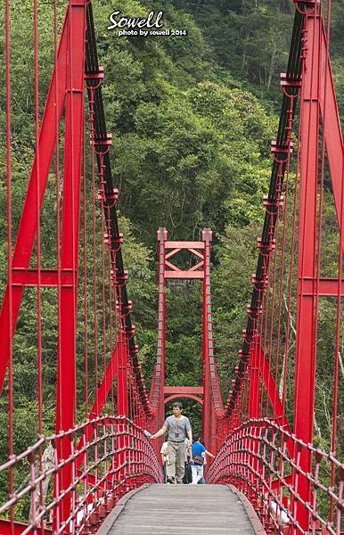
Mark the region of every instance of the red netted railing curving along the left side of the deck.
[[[89, 429], [92, 429], [91, 440]], [[61, 443], [70, 441], [71, 454], [61, 458]], [[52, 449], [50, 461], [44, 451]], [[43, 455], [42, 455], [43, 452]], [[24, 469], [25, 467], [25, 469]], [[12, 469], [27, 474], [20, 490], [0, 506], [1, 533], [93, 533], [116, 502], [129, 490], [147, 482], [162, 482], [162, 472], [152, 442], [143, 429], [124, 416], [102, 416], [77, 425], [69, 432], [42, 436], [37, 443], [0, 466], [0, 474]], [[67, 489], [61, 473], [71, 469]], [[52, 477], [53, 476], [53, 477]], [[61, 520], [63, 500], [70, 500], [70, 515]], [[26, 501], [26, 504], [25, 504]], [[16, 511], [29, 509], [28, 523], [16, 523]], [[22, 517], [20, 520], [23, 522]], [[1, 522], [1, 521], [0, 521]]]

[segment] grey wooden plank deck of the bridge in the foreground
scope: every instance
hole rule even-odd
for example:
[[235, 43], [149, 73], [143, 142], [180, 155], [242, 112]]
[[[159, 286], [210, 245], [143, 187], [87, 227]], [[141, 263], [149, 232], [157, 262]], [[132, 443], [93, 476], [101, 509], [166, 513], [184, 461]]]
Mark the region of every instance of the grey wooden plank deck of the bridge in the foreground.
[[144, 485], [122, 498], [97, 535], [263, 535], [249, 502], [227, 485]]

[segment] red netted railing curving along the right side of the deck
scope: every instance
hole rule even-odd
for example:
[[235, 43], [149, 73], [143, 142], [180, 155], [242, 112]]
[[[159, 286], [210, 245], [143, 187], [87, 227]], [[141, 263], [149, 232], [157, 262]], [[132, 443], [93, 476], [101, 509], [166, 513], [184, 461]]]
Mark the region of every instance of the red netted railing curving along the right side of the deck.
[[[312, 471], [305, 473], [300, 459], [312, 456]], [[331, 484], [335, 473], [334, 486]], [[299, 481], [307, 478], [311, 499], [299, 494]], [[219, 449], [207, 474], [209, 483], [230, 482], [250, 499], [266, 531], [303, 533], [298, 509], [309, 518], [309, 531], [340, 533], [344, 507], [344, 465], [332, 453], [306, 444], [268, 419], [242, 424]]]

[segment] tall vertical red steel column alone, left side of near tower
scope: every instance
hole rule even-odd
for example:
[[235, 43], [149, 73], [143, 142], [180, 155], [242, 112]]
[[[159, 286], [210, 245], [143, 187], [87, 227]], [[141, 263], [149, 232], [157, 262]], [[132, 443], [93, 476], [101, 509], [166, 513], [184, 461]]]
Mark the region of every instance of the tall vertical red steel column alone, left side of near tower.
[[[70, 3], [69, 62], [64, 122], [64, 161], [62, 192], [61, 269], [75, 274], [71, 287], [62, 287], [59, 309], [59, 355], [57, 366], [56, 432], [68, 431], [76, 420], [76, 343], [78, 298], [78, 230], [80, 211], [81, 161], [84, 142], [84, 69], [86, 0]], [[61, 440], [58, 456], [70, 456], [69, 438]], [[61, 470], [61, 489], [68, 489], [72, 467]], [[61, 502], [61, 520], [70, 514], [71, 495]]]

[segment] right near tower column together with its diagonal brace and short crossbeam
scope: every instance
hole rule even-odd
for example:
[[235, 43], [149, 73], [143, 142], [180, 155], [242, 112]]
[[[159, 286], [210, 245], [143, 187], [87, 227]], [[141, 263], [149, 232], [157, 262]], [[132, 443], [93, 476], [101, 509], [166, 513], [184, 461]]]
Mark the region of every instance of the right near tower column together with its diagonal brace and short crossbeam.
[[[316, 10], [316, 6], [315, 6]], [[314, 329], [315, 299], [319, 295], [343, 295], [342, 280], [321, 279], [315, 283], [316, 262], [316, 196], [319, 153], [319, 115], [323, 115], [326, 151], [332, 177], [332, 191], [337, 220], [340, 225], [342, 187], [344, 179], [343, 140], [336, 95], [333, 86], [324, 20], [315, 12], [305, 17], [307, 54], [303, 70], [300, 99], [300, 202], [299, 202], [299, 301], [297, 317], [296, 382], [294, 403], [294, 432], [305, 442], [313, 441], [313, 415], [315, 405], [316, 339]], [[344, 250], [344, 236], [340, 235]], [[312, 467], [312, 457], [306, 452], [300, 459], [301, 468], [307, 473]], [[299, 494], [305, 501], [311, 498], [307, 478], [294, 472], [299, 478]], [[308, 528], [309, 514], [298, 509], [302, 528]]]

